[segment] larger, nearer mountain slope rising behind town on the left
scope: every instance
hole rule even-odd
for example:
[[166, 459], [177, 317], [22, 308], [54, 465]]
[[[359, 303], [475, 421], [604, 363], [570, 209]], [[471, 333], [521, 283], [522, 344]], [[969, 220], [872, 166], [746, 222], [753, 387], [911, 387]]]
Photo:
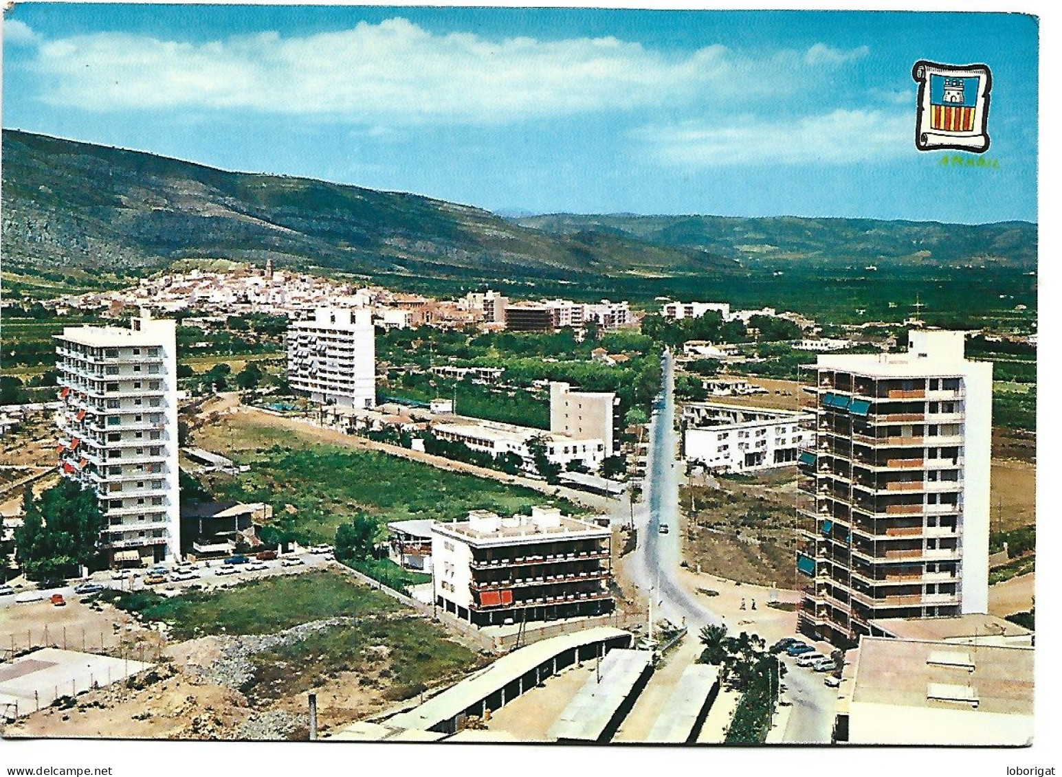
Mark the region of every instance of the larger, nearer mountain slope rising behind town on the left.
[[479, 208], [3, 131], [6, 269], [123, 274], [227, 259], [372, 274], [564, 278], [733, 266], [627, 231], [563, 234]]

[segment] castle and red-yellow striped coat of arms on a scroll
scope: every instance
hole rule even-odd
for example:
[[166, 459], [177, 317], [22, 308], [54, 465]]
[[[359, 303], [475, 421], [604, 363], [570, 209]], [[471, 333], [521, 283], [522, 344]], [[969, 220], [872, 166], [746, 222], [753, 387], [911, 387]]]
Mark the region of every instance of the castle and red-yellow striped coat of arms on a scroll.
[[987, 65], [940, 65], [921, 59], [914, 63], [911, 75], [919, 83], [914, 126], [919, 151], [988, 151], [992, 71]]

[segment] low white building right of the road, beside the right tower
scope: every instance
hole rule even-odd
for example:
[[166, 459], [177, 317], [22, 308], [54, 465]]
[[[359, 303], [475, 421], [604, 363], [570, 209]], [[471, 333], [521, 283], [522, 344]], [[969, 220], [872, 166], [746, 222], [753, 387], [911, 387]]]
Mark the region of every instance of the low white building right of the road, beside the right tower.
[[683, 455], [709, 470], [746, 472], [795, 464], [810, 415], [718, 402], [683, 405]]

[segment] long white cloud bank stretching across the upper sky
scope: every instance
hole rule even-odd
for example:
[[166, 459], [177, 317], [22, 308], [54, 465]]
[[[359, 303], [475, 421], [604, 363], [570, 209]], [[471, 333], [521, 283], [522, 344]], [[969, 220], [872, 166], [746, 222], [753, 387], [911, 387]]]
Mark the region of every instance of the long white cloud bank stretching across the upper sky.
[[491, 40], [434, 34], [395, 18], [303, 37], [271, 32], [202, 44], [73, 36], [44, 42], [35, 66], [44, 100], [95, 111], [213, 108], [370, 125], [498, 123], [785, 93], [796, 88], [802, 68], [811, 76], [804, 61], [815, 49], [756, 59], [723, 46], [673, 53], [615, 37]]

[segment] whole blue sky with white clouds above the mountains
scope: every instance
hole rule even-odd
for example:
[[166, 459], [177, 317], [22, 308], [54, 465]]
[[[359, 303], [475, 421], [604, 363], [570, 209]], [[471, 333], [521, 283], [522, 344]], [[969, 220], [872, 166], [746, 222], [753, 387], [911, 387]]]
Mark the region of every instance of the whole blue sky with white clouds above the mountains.
[[[914, 149], [925, 58], [987, 156]], [[3, 125], [529, 212], [1037, 219], [1037, 24], [1005, 14], [20, 3]]]

